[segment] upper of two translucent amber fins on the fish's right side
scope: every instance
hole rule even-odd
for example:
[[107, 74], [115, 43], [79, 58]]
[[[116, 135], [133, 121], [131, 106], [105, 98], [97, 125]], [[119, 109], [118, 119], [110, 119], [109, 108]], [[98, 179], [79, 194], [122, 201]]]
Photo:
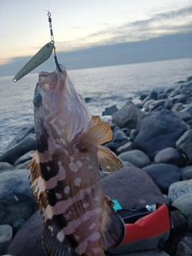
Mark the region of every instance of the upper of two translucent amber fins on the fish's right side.
[[83, 151], [93, 146], [109, 142], [113, 138], [113, 132], [108, 122], [98, 123], [87, 130], [78, 143], [78, 149]]

